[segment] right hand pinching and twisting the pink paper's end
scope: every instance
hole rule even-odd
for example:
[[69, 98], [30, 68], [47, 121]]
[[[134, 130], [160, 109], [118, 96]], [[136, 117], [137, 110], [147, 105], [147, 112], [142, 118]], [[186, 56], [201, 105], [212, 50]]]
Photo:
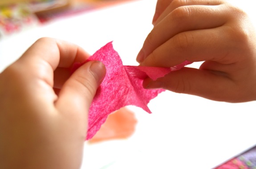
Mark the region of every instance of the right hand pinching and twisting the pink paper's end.
[[146, 88], [226, 102], [256, 100], [256, 32], [243, 11], [223, 0], [158, 0], [157, 5], [154, 28], [137, 57], [140, 65], [205, 62], [156, 82], [146, 79]]

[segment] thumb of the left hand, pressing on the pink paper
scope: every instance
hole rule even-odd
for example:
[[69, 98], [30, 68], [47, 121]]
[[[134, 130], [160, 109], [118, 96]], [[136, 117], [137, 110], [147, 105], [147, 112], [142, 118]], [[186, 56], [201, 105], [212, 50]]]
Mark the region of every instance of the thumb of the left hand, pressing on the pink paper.
[[90, 61], [79, 67], [62, 87], [56, 106], [66, 112], [88, 112], [90, 104], [106, 75], [106, 67]]

